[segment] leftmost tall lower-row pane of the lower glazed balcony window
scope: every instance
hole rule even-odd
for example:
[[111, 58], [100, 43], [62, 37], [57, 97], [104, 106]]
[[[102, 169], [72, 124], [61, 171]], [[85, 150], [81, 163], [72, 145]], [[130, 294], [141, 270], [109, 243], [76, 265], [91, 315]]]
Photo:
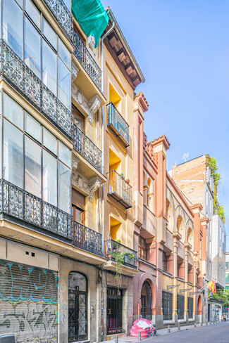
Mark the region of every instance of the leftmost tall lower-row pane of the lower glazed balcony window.
[[4, 119], [4, 179], [23, 188], [23, 133]]

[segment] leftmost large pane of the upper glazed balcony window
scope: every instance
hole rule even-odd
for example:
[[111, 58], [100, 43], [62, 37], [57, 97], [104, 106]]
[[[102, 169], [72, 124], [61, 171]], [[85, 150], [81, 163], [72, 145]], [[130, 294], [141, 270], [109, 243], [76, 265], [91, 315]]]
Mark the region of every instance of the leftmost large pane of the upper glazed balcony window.
[[14, 0], [3, 0], [2, 37], [23, 58], [23, 11]]

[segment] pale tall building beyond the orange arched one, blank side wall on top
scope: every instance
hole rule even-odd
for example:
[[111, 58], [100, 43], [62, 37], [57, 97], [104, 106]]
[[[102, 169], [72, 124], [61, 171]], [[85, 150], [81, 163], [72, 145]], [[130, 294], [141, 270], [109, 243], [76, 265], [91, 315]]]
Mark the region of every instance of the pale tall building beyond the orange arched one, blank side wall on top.
[[[225, 228], [217, 214], [213, 214], [213, 178], [207, 164], [207, 156], [203, 155], [188, 162], [174, 165], [173, 179], [185, 196], [193, 203], [202, 205], [201, 223], [203, 237], [202, 266], [204, 284], [215, 280], [216, 288], [225, 287]], [[210, 299], [209, 292], [204, 289], [204, 321], [221, 318], [222, 306]]]

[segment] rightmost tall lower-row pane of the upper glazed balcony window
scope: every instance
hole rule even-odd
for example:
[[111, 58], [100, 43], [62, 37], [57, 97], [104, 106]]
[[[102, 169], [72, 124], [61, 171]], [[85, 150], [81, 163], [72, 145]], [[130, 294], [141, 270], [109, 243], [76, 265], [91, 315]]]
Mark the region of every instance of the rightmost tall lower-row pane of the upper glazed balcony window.
[[58, 98], [70, 109], [70, 71], [58, 58]]

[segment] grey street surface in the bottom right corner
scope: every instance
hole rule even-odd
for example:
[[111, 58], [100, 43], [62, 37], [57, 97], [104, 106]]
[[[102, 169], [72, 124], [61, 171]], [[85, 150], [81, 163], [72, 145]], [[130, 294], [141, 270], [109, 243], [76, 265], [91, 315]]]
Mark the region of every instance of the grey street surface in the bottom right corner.
[[229, 322], [171, 332], [152, 337], [146, 343], [229, 343]]

